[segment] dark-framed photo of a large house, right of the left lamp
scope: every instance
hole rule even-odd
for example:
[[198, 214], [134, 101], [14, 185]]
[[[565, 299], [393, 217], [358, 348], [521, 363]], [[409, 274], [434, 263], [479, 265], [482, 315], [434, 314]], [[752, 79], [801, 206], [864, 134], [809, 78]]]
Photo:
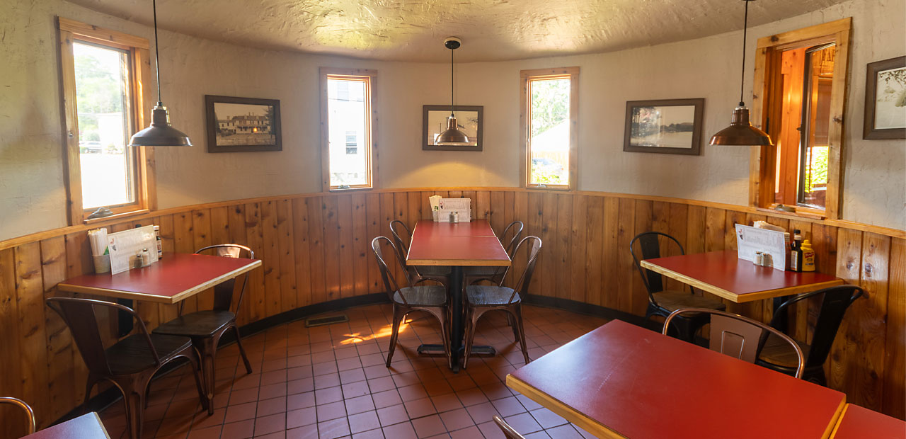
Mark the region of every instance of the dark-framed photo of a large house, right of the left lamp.
[[207, 151], [281, 151], [280, 101], [205, 95]]

